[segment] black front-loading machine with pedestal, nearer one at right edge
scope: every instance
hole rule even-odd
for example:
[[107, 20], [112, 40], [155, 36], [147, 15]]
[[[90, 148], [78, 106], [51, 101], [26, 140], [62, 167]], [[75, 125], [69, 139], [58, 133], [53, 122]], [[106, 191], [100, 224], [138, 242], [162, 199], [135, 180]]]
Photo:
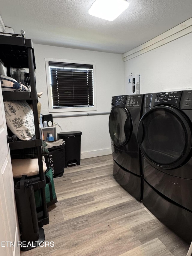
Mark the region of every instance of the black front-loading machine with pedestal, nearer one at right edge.
[[146, 94], [138, 127], [143, 203], [192, 240], [192, 90]]

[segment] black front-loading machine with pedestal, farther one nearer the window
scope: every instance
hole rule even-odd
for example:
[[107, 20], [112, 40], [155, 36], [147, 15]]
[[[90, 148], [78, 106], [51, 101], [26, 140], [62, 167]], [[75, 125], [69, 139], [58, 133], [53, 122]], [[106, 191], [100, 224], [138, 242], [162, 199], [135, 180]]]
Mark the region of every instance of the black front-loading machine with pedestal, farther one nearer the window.
[[143, 182], [137, 128], [144, 95], [114, 96], [109, 117], [113, 176], [137, 200], [142, 200]]

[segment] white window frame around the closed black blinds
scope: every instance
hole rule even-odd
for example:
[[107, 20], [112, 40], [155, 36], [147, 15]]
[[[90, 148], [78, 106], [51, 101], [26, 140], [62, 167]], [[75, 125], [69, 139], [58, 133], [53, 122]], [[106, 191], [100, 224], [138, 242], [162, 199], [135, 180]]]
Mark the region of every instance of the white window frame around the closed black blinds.
[[[90, 107], [64, 107], [64, 108], [53, 108], [52, 107], [52, 91], [50, 82], [50, 72], [49, 72], [49, 61], [50, 62], [63, 62], [63, 63], [77, 63], [77, 64], [90, 64], [93, 65], [93, 104]], [[47, 95], [49, 104], [49, 113], [61, 113], [61, 112], [81, 112], [81, 111], [96, 111], [96, 76], [95, 76], [95, 62], [79, 61], [79, 60], [69, 60], [69, 59], [52, 59], [45, 58], [45, 70], [46, 70], [46, 81], [47, 81]]]

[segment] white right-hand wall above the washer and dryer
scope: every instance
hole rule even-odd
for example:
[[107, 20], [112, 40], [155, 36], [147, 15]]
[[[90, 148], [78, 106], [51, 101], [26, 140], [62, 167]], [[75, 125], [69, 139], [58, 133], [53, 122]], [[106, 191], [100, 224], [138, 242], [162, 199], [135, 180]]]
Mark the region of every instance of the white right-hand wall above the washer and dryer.
[[140, 74], [140, 93], [191, 88], [191, 45], [192, 33], [125, 61], [125, 77]]

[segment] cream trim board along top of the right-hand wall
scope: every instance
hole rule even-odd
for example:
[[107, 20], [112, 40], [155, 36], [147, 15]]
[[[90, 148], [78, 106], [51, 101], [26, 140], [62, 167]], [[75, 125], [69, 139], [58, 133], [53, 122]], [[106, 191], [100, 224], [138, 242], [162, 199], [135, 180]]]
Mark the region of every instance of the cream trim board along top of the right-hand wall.
[[152, 40], [130, 50], [126, 53], [122, 54], [123, 61], [128, 61], [129, 59], [133, 59], [143, 53], [147, 53], [151, 50], [154, 50], [158, 47], [161, 47], [164, 44], [170, 43], [184, 35], [187, 35], [192, 32], [192, 18], [184, 21], [178, 26], [167, 30], [163, 34], [153, 38]]

